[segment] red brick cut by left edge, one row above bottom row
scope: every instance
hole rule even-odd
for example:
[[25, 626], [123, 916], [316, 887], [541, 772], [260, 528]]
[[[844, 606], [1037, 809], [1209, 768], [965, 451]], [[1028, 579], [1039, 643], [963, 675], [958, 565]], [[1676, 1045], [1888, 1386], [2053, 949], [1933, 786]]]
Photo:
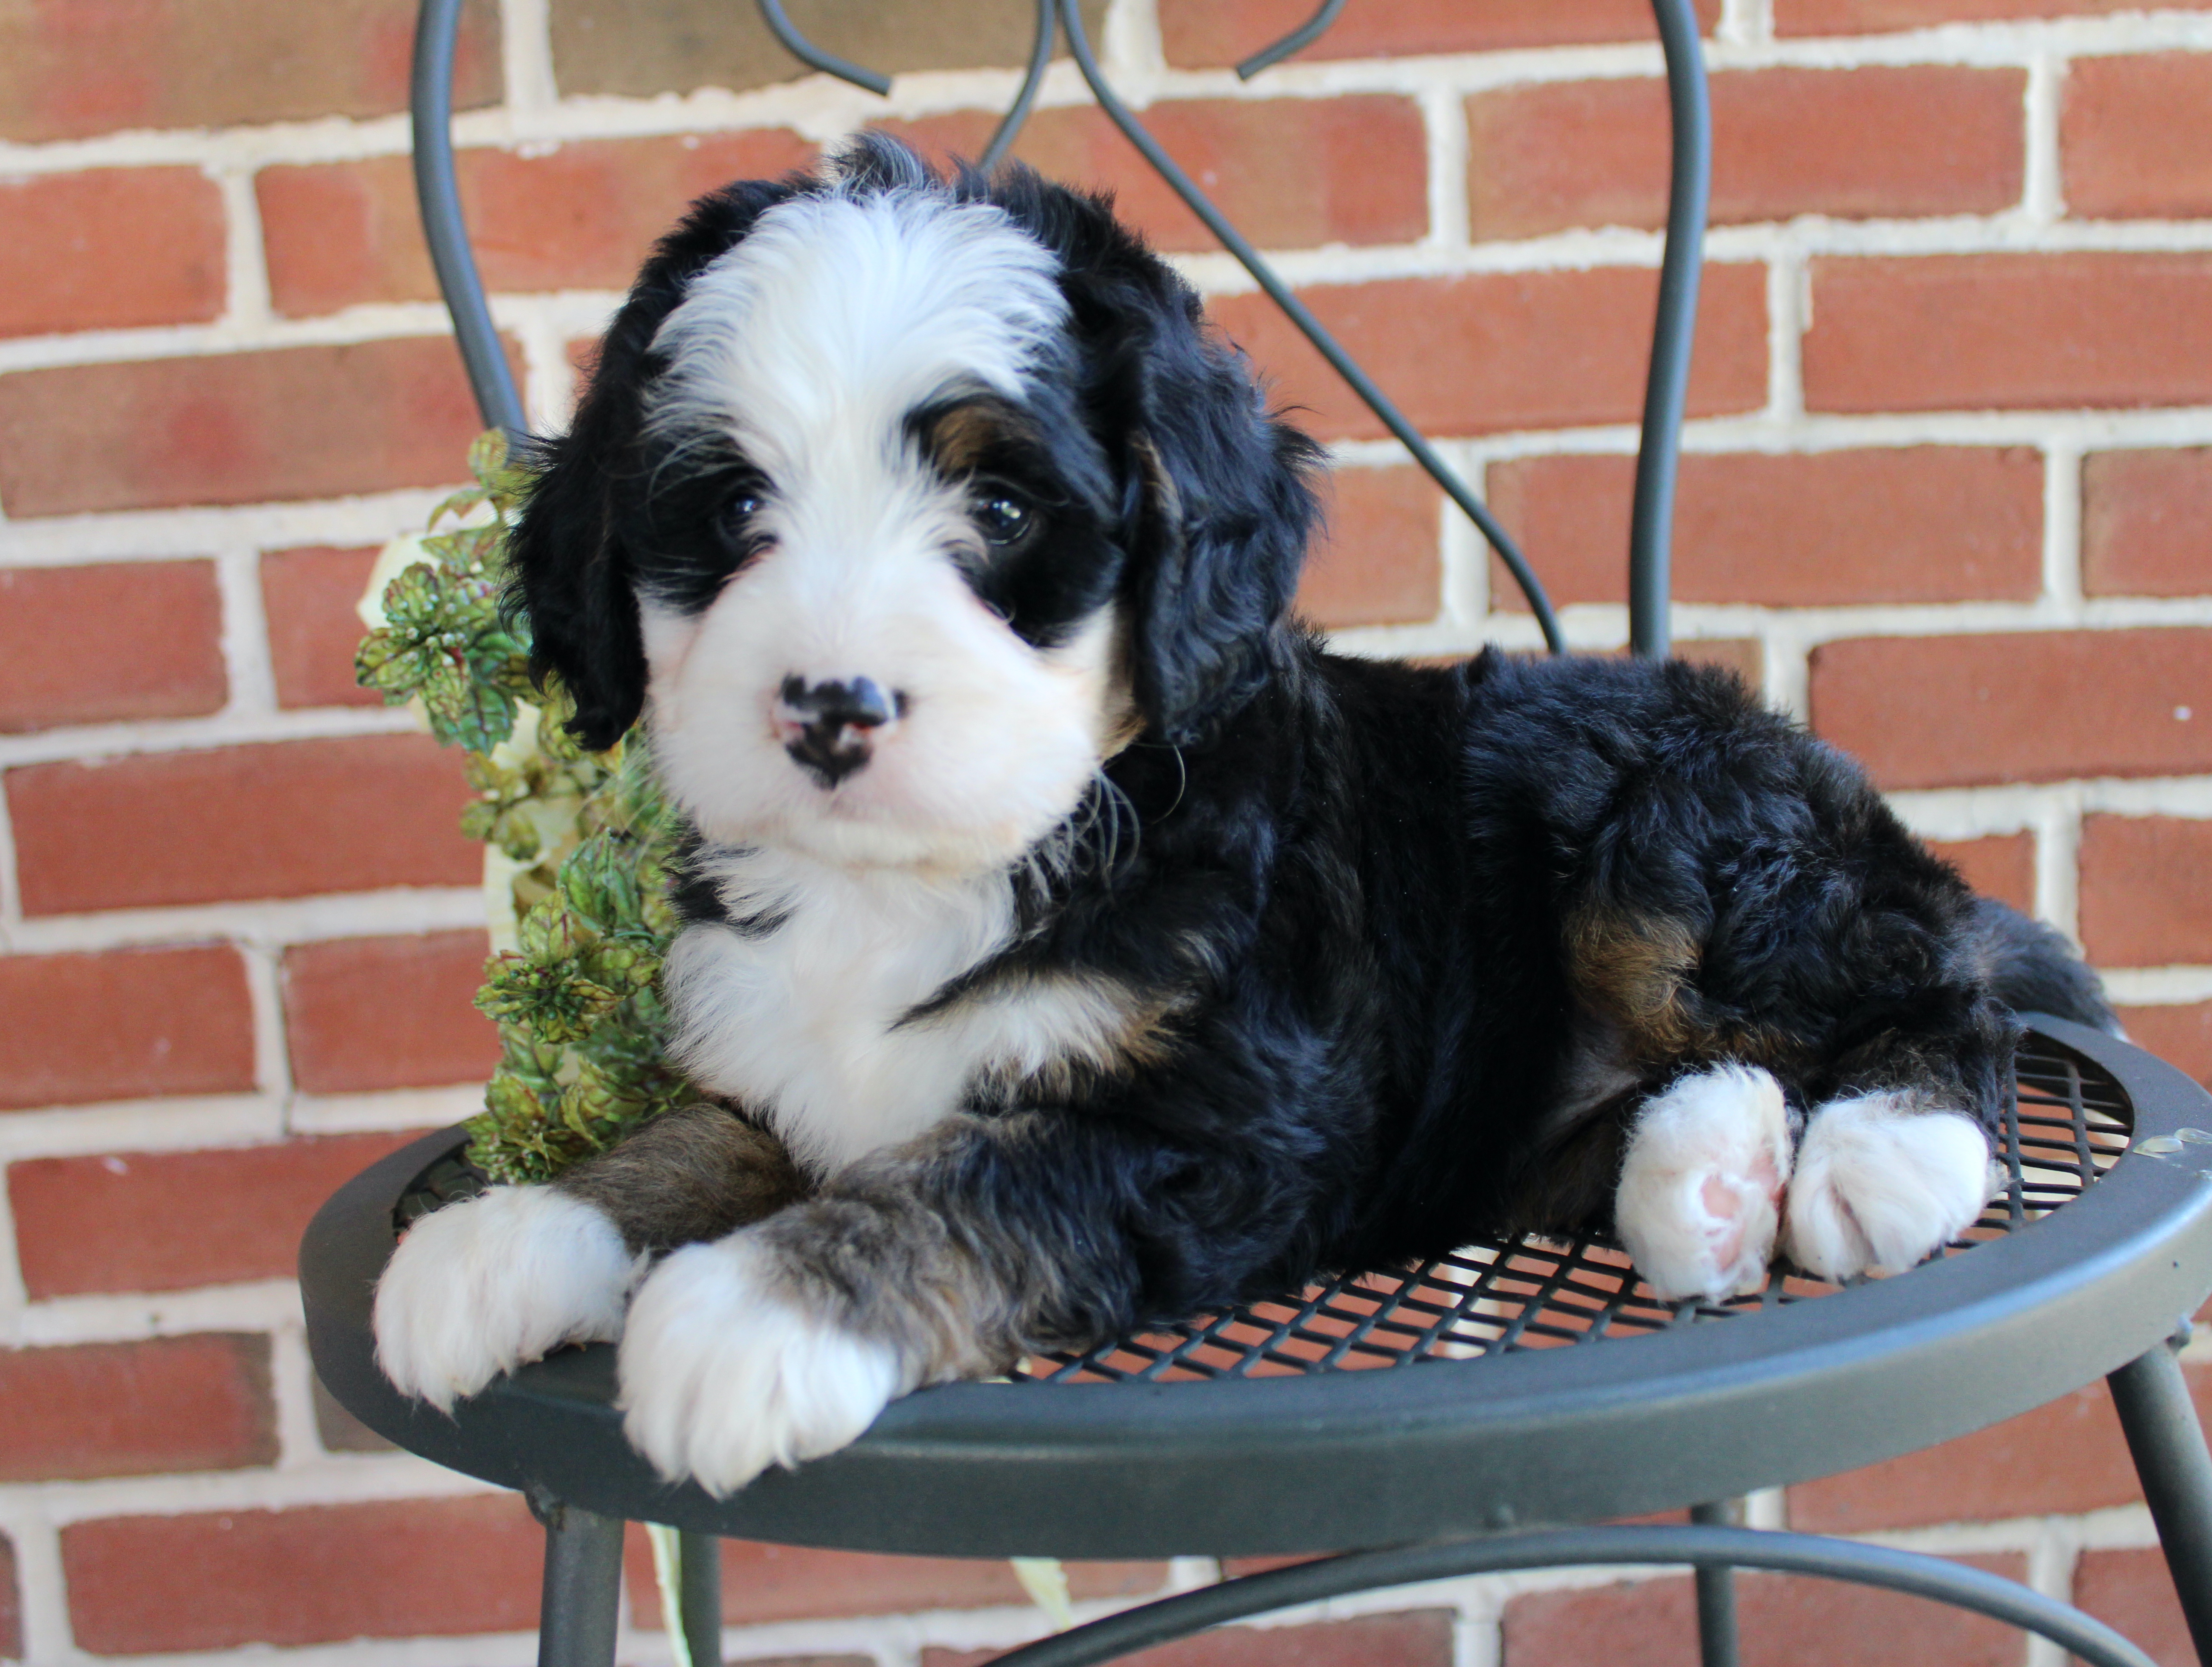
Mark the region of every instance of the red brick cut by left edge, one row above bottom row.
[[0, 1349], [0, 1481], [276, 1461], [263, 1335]]

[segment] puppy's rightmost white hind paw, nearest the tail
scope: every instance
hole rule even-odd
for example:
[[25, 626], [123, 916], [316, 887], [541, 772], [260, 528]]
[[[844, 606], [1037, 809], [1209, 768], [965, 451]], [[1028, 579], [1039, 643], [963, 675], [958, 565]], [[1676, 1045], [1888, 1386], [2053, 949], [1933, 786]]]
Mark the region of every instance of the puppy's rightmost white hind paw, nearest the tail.
[[1973, 1225], [1989, 1203], [1989, 1136], [1909, 1092], [1818, 1108], [1790, 1181], [1790, 1260], [1823, 1280], [1902, 1271]]

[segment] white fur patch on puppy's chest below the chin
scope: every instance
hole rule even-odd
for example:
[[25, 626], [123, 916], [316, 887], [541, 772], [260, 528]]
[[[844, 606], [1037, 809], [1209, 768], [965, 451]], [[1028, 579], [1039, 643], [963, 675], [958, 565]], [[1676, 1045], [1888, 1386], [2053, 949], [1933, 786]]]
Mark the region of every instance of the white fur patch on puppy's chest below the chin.
[[697, 924], [675, 942], [677, 1061], [768, 1116], [816, 1172], [922, 1134], [987, 1077], [1110, 1061], [1128, 1030], [1126, 993], [1077, 977], [907, 1017], [1006, 944], [1004, 876], [940, 882], [770, 851], [717, 853], [706, 873], [754, 924]]

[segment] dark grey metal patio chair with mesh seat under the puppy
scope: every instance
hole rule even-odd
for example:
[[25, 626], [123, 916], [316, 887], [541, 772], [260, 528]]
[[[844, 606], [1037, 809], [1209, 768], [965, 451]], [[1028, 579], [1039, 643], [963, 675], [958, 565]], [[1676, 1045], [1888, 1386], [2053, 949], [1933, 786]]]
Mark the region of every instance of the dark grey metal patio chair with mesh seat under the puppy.
[[[484, 418], [520, 431], [453, 190], [458, 4], [422, 7], [416, 177]], [[759, 4], [805, 62], [887, 86], [805, 42], [774, 0]], [[1329, 0], [1241, 73], [1301, 49], [1340, 7]], [[1663, 654], [1710, 128], [1692, 9], [1652, 9], [1672, 88], [1674, 186], [1630, 617], [1635, 650]], [[989, 159], [1013, 141], [1055, 31], [1108, 117], [1482, 526], [1557, 648], [1542, 586], [1473, 493], [1115, 97], [1077, 0], [1037, 0], [1031, 73]], [[1964, 1435], [2099, 1375], [2112, 1384], [2190, 1634], [2212, 1660], [2212, 1459], [2174, 1353], [2212, 1293], [2212, 1094], [2101, 1032], [2033, 1015], [2028, 1026], [2006, 1116], [2006, 1185], [1960, 1243], [1905, 1276], [1836, 1289], [1778, 1271], [1756, 1296], [1666, 1304], [1599, 1238], [1471, 1245], [1082, 1357], [1033, 1360], [1013, 1382], [909, 1395], [852, 1448], [763, 1475], [726, 1501], [661, 1483], [628, 1448], [604, 1344], [526, 1366], [451, 1417], [403, 1399], [378, 1373], [369, 1298], [396, 1234], [478, 1185], [460, 1130], [394, 1152], [316, 1216], [301, 1247], [307, 1338], [323, 1384], [369, 1428], [531, 1499], [546, 1526], [549, 1667], [611, 1667], [624, 1521], [681, 1530], [672, 1621], [692, 1667], [721, 1658], [719, 1537], [936, 1556], [1340, 1552], [1093, 1621], [1015, 1649], [1006, 1667], [1110, 1660], [1354, 1590], [1597, 1563], [1692, 1565], [1708, 1667], [1736, 1658], [1734, 1568], [1911, 1592], [2037, 1632], [2095, 1667], [2150, 1667], [2110, 1627], [2013, 1581], [1913, 1552], [1739, 1528], [1719, 1503]], [[1586, 1526], [1681, 1506], [1692, 1508], [1690, 1526]]]

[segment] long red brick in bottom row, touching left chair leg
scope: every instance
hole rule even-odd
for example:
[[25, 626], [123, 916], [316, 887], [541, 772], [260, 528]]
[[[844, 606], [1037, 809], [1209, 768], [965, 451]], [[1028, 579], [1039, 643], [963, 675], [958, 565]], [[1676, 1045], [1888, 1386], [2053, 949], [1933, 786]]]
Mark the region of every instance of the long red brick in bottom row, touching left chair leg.
[[520, 1495], [62, 1530], [69, 1618], [100, 1656], [529, 1632], [542, 1561], [544, 1530]]

